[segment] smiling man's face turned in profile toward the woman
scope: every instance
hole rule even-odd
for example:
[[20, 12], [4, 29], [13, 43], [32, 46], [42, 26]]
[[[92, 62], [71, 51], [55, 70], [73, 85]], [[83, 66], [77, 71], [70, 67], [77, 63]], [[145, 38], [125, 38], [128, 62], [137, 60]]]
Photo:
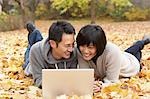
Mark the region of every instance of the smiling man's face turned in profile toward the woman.
[[56, 46], [52, 47], [53, 57], [56, 59], [62, 59], [62, 58], [68, 59], [68, 58], [70, 58], [71, 53], [72, 53], [73, 48], [74, 48], [74, 42], [75, 42], [74, 34], [63, 33], [62, 40], [61, 40], [61, 42], [58, 43], [58, 45], [54, 41]]

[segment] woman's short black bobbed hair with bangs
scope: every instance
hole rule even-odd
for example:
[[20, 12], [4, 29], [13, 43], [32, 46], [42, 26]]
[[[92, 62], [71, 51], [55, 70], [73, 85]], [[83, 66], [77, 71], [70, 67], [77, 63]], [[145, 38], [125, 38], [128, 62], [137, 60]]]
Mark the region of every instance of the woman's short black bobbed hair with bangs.
[[93, 24], [86, 25], [80, 29], [76, 42], [78, 49], [79, 46], [89, 46], [92, 43], [97, 49], [97, 54], [95, 57], [98, 57], [103, 53], [107, 43], [103, 29], [100, 26]]

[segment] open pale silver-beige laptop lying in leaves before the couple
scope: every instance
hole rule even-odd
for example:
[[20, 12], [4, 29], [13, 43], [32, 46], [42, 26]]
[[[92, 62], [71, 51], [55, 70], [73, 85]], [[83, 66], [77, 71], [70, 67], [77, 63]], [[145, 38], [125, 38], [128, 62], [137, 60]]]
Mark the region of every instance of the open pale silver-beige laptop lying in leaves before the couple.
[[93, 95], [94, 69], [42, 69], [43, 99]]

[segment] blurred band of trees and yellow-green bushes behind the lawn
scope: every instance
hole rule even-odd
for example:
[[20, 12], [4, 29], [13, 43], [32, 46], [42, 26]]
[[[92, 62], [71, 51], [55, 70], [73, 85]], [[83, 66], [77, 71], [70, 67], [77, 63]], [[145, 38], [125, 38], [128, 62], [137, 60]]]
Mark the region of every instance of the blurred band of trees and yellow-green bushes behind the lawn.
[[23, 28], [36, 19], [145, 21], [149, 13], [149, 0], [0, 0], [0, 31]]

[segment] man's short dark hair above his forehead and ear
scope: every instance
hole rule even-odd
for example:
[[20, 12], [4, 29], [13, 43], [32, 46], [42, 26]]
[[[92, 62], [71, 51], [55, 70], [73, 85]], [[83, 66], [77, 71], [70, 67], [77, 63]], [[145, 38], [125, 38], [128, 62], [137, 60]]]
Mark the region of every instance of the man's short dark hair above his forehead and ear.
[[55, 42], [59, 43], [62, 40], [63, 33], [75, 34], [75, 29], [66, 21], [54, 22], [49, 28], [48, 40], [54, 40]]

